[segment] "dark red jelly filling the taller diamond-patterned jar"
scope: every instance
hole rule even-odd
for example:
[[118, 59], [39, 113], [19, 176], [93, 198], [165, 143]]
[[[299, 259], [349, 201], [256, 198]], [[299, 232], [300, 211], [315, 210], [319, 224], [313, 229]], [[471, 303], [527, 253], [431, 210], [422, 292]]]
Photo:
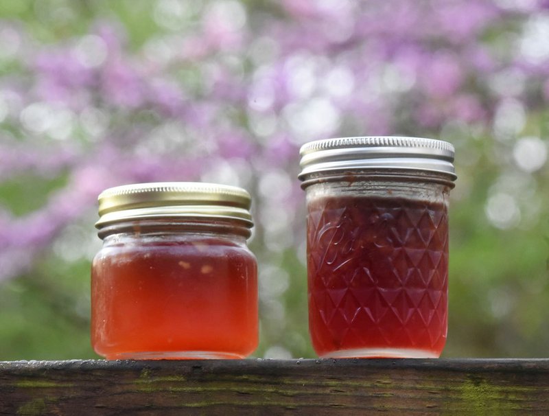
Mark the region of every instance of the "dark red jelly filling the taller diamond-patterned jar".
[[438, 357], [447, 334], [447, 206], [313, 198], [309, 331], [319, 356]]

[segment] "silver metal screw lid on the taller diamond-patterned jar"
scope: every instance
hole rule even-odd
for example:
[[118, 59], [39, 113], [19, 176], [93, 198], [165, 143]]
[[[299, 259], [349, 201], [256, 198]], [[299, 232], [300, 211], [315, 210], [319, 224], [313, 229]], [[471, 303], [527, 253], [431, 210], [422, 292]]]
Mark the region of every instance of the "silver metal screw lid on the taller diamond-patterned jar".
[[335, 170], [422, 170], [456, 179], [454, 146], [419, 137], [341, 137], [301, 146], [301, 181], [317, 172]]

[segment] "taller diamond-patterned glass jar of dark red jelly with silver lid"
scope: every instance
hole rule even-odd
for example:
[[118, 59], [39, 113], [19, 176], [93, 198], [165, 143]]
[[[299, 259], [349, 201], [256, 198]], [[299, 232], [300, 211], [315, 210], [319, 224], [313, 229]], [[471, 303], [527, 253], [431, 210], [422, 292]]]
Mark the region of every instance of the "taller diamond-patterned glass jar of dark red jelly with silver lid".
[[309, 332], [319, 356], [440, 356], [453, 161], [451, 144], [410, 137], [301, 148]]

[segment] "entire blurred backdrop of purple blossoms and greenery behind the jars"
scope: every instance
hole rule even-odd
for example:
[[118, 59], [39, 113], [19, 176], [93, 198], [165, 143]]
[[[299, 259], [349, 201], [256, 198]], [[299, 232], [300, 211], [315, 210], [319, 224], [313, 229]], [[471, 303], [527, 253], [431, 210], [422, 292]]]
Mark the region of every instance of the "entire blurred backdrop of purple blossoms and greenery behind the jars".
[[549, 1], [0, 2], [0, 360], [97, 358], [96, 198], [254, 198], [257, 357], [314, 357], [305, 141], [456, 147], [446, 357], [549, 352]]

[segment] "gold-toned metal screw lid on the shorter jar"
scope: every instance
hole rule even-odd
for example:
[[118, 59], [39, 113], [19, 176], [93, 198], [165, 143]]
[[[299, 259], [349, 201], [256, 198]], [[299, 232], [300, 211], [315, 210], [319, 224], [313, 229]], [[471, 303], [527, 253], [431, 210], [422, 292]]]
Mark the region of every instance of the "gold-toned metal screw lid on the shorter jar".
[[124, 220], [152, 218], [221, 218], [253, 227], [251, 198], [245, 189], [200, 182], [159, 182], [122, 185], [97, 198], [102, 229]]

